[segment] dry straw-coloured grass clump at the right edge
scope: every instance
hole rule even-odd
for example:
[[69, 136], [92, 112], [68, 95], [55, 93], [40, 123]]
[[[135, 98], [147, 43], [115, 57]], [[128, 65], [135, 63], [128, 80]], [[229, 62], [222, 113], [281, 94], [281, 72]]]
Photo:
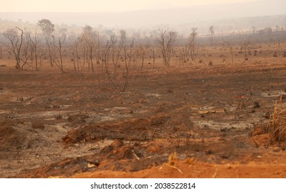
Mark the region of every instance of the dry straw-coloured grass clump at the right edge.
[[271, 135], [270, 144], [274, 141], [286, 141], [286, 107], [281, 103], [282, 98], [283, 95], [280, 97], [280, 104], [276, 104], [267, 123], [267, 130]]

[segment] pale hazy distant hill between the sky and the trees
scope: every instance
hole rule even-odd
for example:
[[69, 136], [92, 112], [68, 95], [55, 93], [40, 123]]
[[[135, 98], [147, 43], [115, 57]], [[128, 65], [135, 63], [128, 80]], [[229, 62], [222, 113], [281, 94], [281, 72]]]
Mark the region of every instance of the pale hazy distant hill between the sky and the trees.
[[115, 29], [150, 30], [167, 25], [180, 34], [189, 34], [191, 27], [198, 27], [200, 34], [208, 33], [210, 25], [215, 33], [250, 30], [264, 27], [281, 27], [286, 23], [285, 0], [259, 0], [247, 3], [196, 5], [188, 8], [141, 10], [133, 12], [0, 12], [0, 19], [29, 21], [50, 19], [58, 25], [103, 25]]

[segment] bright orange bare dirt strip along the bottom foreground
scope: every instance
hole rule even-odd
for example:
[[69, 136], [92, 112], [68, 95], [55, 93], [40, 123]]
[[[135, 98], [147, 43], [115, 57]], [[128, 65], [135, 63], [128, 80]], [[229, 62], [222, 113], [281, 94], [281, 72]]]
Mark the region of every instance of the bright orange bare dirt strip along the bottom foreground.
[[176, 162], [176, 166], [167, 163], [136, 172], [95, 171], [78, 173], [73, 178], [285, 178], [285, 164], [267, 165], [248, 163], [247, 165], [217, 165], [211, 163]]

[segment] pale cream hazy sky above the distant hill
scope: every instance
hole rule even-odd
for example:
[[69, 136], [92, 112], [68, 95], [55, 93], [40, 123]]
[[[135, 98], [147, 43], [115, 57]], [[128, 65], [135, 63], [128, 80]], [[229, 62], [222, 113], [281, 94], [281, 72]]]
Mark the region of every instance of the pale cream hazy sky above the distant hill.
[[1, 0], [0, 12], [124, 12], [256, 0]]

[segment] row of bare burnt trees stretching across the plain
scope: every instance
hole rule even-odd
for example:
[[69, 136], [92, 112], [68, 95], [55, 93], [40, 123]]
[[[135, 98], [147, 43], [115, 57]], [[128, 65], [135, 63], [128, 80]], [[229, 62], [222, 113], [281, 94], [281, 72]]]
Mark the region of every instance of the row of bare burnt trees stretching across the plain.
[[[143, 71], [147, 58], [150, 60], [148, 64], [153, 69], [158, 58], [165, 67], [169, 67], [172, 59], [178, 60], [180, 64], [184, 64], [186, 60], [203, 62], [204, 57], [209, 54], [198, 43], [198, 28], [195, 27], [190, 29], [189, 37], [182, 40], [176, 31], [167, 27], [158, 27], [154, 30], [152, 37], [136, 38], [126, 34], [123, 29], [108, 35], [101, 34], [89, 25], [83, 27], [80, 34], [69, 36], [67, 29], [56, 30], [54, 24], [48, 19], [41, 19], [37, 24], [40, 32], [36, 29], [31, 32], [14, 27], [3, 33], [6, 38], [3, 45], [14, 56], [16, 69], [23, 70], [25, 67], [30, 67], [38, 71], [43, 64], [48, 63], [51, 67], [57, 67], [64, 72], [66, 59], [70, 58], [69, 62], [73, 64], [74, 71], [97, 73], [99, 83], [100, 75], [104, 73], [102, 78], [106, 78], [115, 88], [118, 88], [115, 78], [117, 69], [122, 67], [125, 77], [122, 91], [125, 91], [128, 86], [130, 66], [134, 62], [139, 66], [139, 70]], [[273, 41], [272, 30], [267, 28], [257, 31], [255, 27], [252, 29], [251, 38], [254, 39], [257, 34], [261, 38], [264, 33]], [[206, 41], [208, 45], [215, 45], [214, 26], [209, 27]], [[281, 38], [279, 38], [280, 42]], [[229, 49], [232, 63], [234, 62], [234, 43], [235, 40], [231, 35], [222, 40], [224, 47]], [[241, 45], [244, 46], [244, 50], [247, 50], [249, 43], [243, 40]]]

